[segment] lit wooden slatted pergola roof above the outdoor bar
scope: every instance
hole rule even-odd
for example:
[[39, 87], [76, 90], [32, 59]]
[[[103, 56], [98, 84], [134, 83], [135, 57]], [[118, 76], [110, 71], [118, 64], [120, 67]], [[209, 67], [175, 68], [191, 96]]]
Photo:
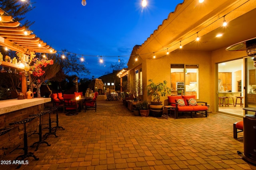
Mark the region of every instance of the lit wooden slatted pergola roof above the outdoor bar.
[[[0, 16], [2, 18], [0, 21], [0, 45], [2, 47], [27, 55], [30, 55], [32, 51], [35, 53], [56, 53], [56, 50], [33, 34], [32, 31], [21, 26], [12, 16], [6, 16], [1, 9]], [[39, 44], [41, 47], [38, 46]]]

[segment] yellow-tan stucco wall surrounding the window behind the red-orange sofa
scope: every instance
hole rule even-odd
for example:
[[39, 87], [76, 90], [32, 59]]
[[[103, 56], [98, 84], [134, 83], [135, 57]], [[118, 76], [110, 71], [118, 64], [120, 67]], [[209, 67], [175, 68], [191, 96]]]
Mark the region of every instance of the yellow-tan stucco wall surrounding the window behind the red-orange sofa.
[[[146, 62], [146, 74], [143, 72], [143, 80], [147, 82], [148, 79], [153, 79], [154, 82], [167, 81], [168, 87], [171, 83], [171, 64], [198, 64], [199, 66], [199, 100], [211, 104], [210, 90], [212, 84], [212, 68], [211, 68], [211, 52], [207, 51], [174, 51], [169, 55], [165, 55], [160, 59], [148, 59]], [[143, 66], [143, 64], [142, 64]], [[144, 100], [146, 100], [144, 95]], [[167, 99], [167, 96], [161, 100]]]

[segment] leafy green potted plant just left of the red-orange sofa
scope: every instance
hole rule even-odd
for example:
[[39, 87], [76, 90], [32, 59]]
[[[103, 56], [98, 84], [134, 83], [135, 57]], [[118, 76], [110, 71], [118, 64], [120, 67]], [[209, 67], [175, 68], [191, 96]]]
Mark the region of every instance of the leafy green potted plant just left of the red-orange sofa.
[[171, 93], [171, 89], [166, 86], [167, 84], [166, 80], [158, 84], [154, 83], [152, 79], [149, 79], [148, 82], [150, 82], [150, 84], [148, 84], [147, 86], [147, 94], [149, 97], [153, 96], [153, 101], [151, 102], [151, 104], [153, 105], [162, 104], [162, 101], [160, 101], [160, 96], [163, 97], [166, 94]]

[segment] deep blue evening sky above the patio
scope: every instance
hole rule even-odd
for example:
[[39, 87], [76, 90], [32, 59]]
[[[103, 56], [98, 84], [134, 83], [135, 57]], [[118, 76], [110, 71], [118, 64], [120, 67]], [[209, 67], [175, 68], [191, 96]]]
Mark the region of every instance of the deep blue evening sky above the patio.
[[[141, 45], [183, 0], [31, 0], [36, 8], [26, 15], [35, 21], [30, 27], [44, 42], [57, 51], [102, 56], [86, 57], [83, 62], [91, 72], [80, 78], [98, 78], [112, 72], [111, 63], [129, 60], [134, 45]], [[116, 56], [116, 57], [105, 57]]]

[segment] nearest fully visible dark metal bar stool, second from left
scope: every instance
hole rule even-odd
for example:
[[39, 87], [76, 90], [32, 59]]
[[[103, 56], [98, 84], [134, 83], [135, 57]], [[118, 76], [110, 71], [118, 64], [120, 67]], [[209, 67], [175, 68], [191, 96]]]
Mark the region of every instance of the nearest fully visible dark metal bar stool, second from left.
[[[16, 148], [16, 149], [22, 149], [24, 150], [24, 154], [20, 155], [20, 156], [17, 156], [15, 158], [15, 160], [18, 160], [18, 158], [21, 158], [21, 160], [24, 160], [25, 158], [28, 158], [28, 157], [33, 157], [35, 160], [39, 160], [39, 158], [37, 158], [34, 153], [32, 152], [28, 152], [28, 133], [31, 133], [31, 132], [27, 132], [26, 131], [26, 123], [32, 121], [34, 118], [36, 117], [28, 117], [24, 120], [21, 120], [21, 121], [16, 121], [16, 122], [13, 122], [13, 123], [9, 123], [9, 125], [17, 125], [17, 124], [23, 124], [24, 125], [24, 136], [23, 136], [23, 141], [24, 141], [24, 147], [23, 148]], [[35, 131], [32, 131], [32, 132], [35, 132]], [[16, 150], [14, 149], [14, 150]], [[13, 151], [13, 150], [12, 150]], [[11, 152], [12, 152], [11, 151]], [[10, 153], [11, 153], [10, 152]], [[20, 168], [22, 164], [19, 164], [19, 166], [17, 168]]]

